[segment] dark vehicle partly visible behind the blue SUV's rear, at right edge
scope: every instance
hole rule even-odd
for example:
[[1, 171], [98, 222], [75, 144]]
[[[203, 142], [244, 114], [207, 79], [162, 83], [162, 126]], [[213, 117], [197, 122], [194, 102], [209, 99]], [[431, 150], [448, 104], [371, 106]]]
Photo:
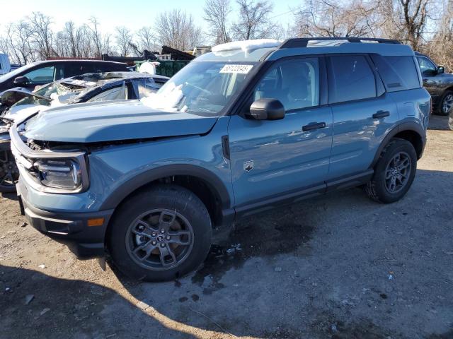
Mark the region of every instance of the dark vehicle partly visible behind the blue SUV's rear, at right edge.
[[453, 74], [445, 73], [425, 54], [415, 52], [423, 78], [423, 86], [432, 97], [433, 112], [448, 115], [453, 108]]

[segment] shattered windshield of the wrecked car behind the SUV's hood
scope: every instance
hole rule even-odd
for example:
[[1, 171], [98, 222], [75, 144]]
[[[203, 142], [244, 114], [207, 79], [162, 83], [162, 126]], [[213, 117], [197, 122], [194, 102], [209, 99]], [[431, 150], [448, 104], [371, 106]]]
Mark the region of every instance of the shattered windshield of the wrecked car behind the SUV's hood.
[[[72, 88], [69, 88], [72, 87]], [[75, 88], [74, 88], [75, 87]], [[50, 85], [45, 85], [38, 90], [34, 90], [33, 93], [37, 95], [41, 95], [42, 97], [48, 97], [50, 100], [45, 100], [40, 97], [24, 97], [23, 99], [19, 100], [13, 106], [20, 106], [20, 105], [43, 105], [43, 106], [50, 106], [52, 105], [51, 100], [57, 100], [61, 103], [68, 103], [71, 99], [73, 99], [76, 95], [79, 95], [85, 87], [83, 86], [74, 86], [74, 85], [66, 85], [64, 83], [50, 83]]]

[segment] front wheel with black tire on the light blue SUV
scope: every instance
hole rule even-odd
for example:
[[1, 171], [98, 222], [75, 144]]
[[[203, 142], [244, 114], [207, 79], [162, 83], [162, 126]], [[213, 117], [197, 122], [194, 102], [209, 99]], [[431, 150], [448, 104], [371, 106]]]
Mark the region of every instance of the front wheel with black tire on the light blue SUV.
[[107, 244], [122, 273], [159, 282], [200, 266], [211, 237], [210, 215], [200, 198], [183, 187], [162, 184], [135, 194], [115, 212]]

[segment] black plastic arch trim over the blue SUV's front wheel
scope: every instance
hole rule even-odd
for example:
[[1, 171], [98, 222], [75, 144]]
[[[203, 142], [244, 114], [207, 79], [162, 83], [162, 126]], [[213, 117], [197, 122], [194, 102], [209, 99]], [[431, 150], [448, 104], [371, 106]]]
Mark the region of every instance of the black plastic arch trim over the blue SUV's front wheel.
[[149, 169], [147, 172], [143, 172], [136, 177], [124, 182], [115, 191], [110, 193], [110, 196], [105, 199], [100, 210], [108, 210], [116, 208], [127, 196], [140, 189], [142, 186], [154, 182], [157, 179], [165, 177], [172, 177], [177, 175], [188, 175], [191, 177], [197, 177], [207, 184], [214, 194], [217, 194], [217, 198], [222, 204], [222, 210], [231, 209], [231, 198], [226, 186], [216, 174], [212, 173], [209, 169], [205, 169], [196, 165], [188, 164], [176, 164], [166, 165]]

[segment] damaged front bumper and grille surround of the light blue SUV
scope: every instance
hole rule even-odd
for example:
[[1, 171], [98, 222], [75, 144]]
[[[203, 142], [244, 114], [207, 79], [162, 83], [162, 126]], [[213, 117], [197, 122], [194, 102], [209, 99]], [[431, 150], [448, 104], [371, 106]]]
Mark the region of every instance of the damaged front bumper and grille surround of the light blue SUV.
[[[72, 157], [82, 164], [81, 171], [88, 182], [85, 155], [82, 152], [54, 152], [29, 148], [18, 134], [16, 125], [10, 130], [11, 150], [20, 171], [16, 184], [21, 213], [30, 225], [48, 237], [66, 244], [81, 259], [105, 256], [105, 230], [113, 210], [84, 210], [80, 201], [87, 186], [72, 191], [43, 186], [30, 175], [33, 162], [42, 158]], [[31, 203], [30, 201], [33, 201]]]

